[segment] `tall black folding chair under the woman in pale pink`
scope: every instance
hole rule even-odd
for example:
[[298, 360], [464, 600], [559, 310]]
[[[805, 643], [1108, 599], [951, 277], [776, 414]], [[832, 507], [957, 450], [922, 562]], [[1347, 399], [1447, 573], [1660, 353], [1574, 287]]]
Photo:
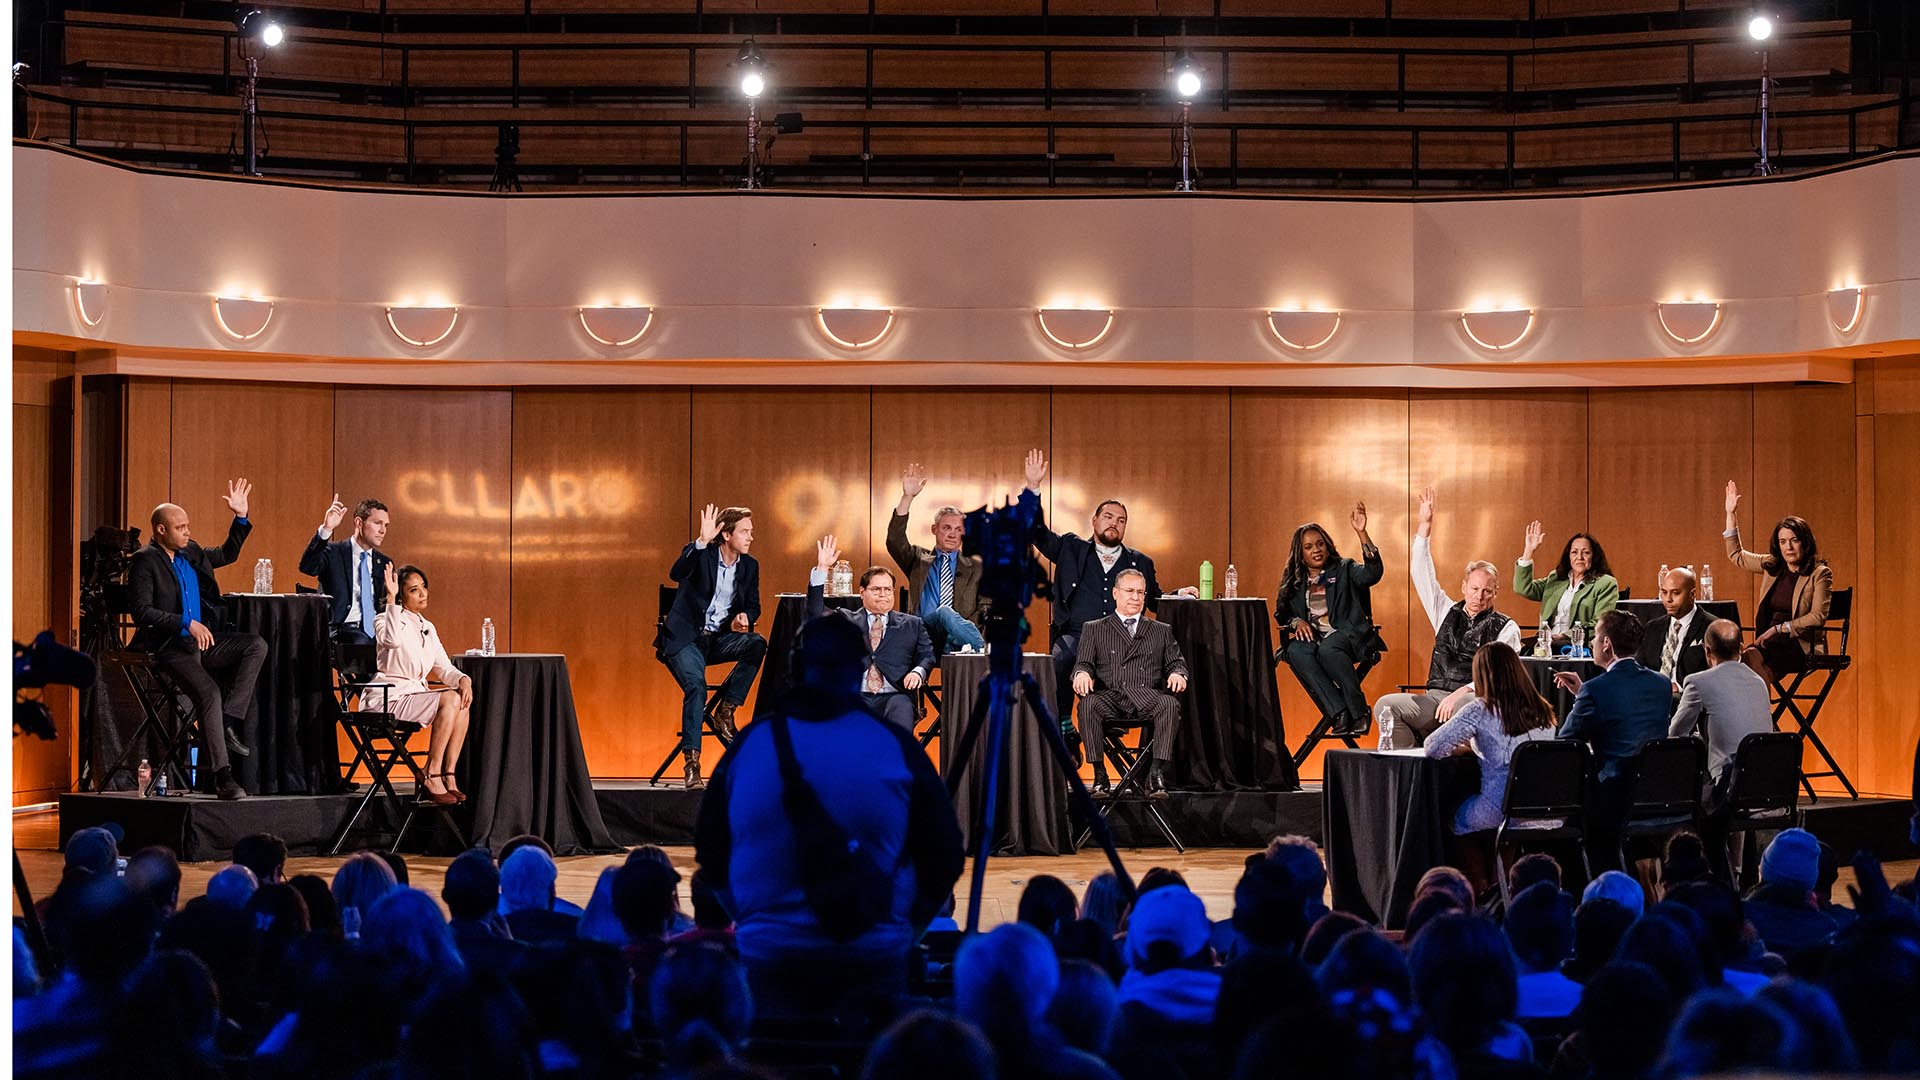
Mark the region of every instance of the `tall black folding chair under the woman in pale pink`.
[[[388, 851], [399, 851], [401, 842], [407, 840], [407, 830], [413, 828], [413, 819], [420, 811], [432, 811], [438, 822], [453, 834], [453, 842], [459, 847], [467, 847], [467, 834], [453, 821], [451, 807], [426, 801], [426, 749], [409, 746], [409, 740], [420, 732], [420, 724], [405, 723], [394, 715], [388, 701], [394, 686], [378, 682], [378, 678], [374, 646], [334, 642], [334, 694], [340, 701], [340, 728], [348, 732], [348, 742], [353, 744], [353, 763], [348, 765], [348, 780], [365, 765], [372, 782], [367, 784], [367, 792], [353, 807], [353, 815], [340, 826], [328, 853], [338, 855], [353, 832], [386, 834], [384, 828], [357, 828], [367, 809], [372, 807], [372, 799], [382, 794], [399, 815], [399, 828], [394, 832], [394, 846]], [[413, 774], [413, 798], [405, 798], [394, 788], [396, 767], [405, 767]]]

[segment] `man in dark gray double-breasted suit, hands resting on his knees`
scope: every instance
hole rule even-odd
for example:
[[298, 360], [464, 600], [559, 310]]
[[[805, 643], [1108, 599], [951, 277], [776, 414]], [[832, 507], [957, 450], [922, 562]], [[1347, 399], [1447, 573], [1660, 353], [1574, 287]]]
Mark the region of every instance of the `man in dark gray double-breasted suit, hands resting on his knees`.
[[1119, 717], [1146, 717], [1152, 723], [1152, 771], [1146, 794], [1167, 798], [1165, 763], [1173, 751], [1173, 728], [1181, 723], [1181, 703], [1173, 694], [1187, 690], [1187, 661], [1173, 630], [1142, 617], [1146, 575], [1119, 571], [1114, 577], [1114, 613], [1081, 628], [1073, 663], [1073, 694], [1079, 698], [1081, 738], [1092, 759], [1092, 794], [1108, 798], [1106, 724]]

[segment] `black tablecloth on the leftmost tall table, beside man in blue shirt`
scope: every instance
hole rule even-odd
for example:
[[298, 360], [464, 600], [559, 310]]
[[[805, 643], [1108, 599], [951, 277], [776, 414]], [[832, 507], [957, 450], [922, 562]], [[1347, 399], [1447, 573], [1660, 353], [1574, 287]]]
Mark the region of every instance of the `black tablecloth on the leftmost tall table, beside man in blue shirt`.
[[334, 700], [330, 600], [317, 594], [228, 592], [230, 630], [267, 640], [253, 709], [236, 732], [250, 757], [234, 757], [234, 780], [255, 796], [319, 796], [346, 790], [340, 776], [340, 703]]

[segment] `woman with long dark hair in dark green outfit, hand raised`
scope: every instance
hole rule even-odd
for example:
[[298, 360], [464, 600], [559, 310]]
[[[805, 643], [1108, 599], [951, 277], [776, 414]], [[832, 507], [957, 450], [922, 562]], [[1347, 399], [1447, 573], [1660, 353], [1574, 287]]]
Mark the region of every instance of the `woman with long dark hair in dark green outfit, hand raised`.
[[1359, 563], [1342, 559], [1317, 523], [1294, 528], [1273, 619], [1286, 642], [1286, 667], [1332, 721], [1329, 730], [1354, 736], [1365, 734], [1373, 717], [1356, 669], [1373, 646], [1367, 590], [1379, 584], [1382, 567], [1380, 550], [1367, 536], [1367, 503], [1354, 503], [1348, 523], [1359, 536]]

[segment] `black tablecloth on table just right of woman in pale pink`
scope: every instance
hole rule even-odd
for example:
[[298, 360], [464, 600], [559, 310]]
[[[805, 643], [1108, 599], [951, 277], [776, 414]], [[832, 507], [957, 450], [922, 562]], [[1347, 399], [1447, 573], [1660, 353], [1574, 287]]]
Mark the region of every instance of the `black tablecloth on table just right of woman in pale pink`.
[[474, 680], [472, 726], [455, 767], [472, 811], [468, 842], [499, 847], [522, 832], [555, 855], [618, 851], [580, 748], [574, 686], [561, 653], [453, 659]]

